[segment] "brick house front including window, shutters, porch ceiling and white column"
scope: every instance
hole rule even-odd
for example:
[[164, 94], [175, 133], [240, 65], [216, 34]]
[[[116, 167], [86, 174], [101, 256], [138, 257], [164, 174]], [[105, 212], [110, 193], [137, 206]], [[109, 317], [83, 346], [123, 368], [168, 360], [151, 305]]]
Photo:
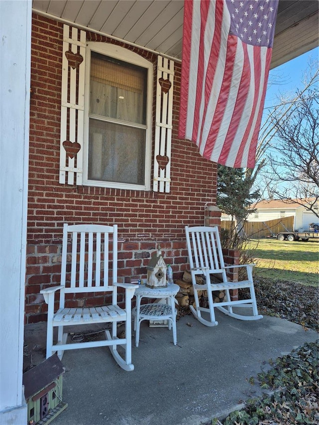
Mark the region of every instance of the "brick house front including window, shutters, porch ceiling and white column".
[[[318, 45], [317, 2], [287, 3], [273, 66]], [[26, 420], [23, 318], [46, 320], [39, 292], [59, 282], [64, 222], [119, 225], [122, 282], [146, 276], [158, 245], [181, 274], [184, 226], [220, 223], [216, 164], [177, 137], [182, 7], [0, 1], [1, 424]]]

